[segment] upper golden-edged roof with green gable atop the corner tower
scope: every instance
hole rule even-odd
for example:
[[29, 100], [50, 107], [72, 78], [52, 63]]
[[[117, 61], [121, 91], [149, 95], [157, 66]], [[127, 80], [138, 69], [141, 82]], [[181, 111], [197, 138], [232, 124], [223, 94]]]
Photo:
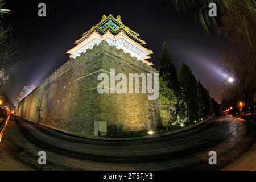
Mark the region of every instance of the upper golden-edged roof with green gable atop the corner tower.
[[97, 32], [98, 34], [104, 35], [105, 32], [110, 31], [113, 35], [119, 34], [119, 32], [124, 32], [129, 38], [133, 39], [138, 44], [146, 44], [144, 40], [139, 39], [139, 34], [137, 32], [134, 32], [129, 27], [125, 26], [122, 23], [121, 16], [118, 15], [117, 18], [114, 18], [111, 14], [109, 16], [103, 15], [100, 23], [96, 24], [96, 26], [93, 26], [90, 28], [90, 30], [84, 32], [82, 34], [82, 38], [75, 41], [75, 44], [81, 43], [83, 40], [88, 38], [90, 34], [93, 32]]

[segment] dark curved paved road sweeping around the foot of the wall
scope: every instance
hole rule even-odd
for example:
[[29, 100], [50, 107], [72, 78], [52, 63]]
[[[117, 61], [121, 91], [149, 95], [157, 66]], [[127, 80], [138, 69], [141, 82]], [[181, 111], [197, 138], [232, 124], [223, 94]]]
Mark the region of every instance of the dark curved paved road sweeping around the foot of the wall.
[[[255, 128], [243, 119], [226, 115], [176, 134], [108, 141], [75, 137], [11, 118], [0, 152], [8, 151], [26, 169], [216, 170], [236, 161], [253, 146]], [[47, 154], [45, 166], [38, 164], [37, 154], [41, 150]], [[210, 166], [208, 153], [212, 150], [217, 152], [217, 165]], [[8, 160], [1, 160], [0, 167], [7, 165]]]

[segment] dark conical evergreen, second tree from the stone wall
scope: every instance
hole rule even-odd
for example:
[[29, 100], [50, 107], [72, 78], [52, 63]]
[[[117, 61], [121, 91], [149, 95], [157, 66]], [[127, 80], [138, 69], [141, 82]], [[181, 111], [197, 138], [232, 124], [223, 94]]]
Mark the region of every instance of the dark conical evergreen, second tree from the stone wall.
[[[185, 121], [193, 122], [199, 119], [199, 100], [197, 96], [197, 81], [187, 64], [182, 63], [180, 71], [181, 105], [180, 117]], [[185, 108], [184, 108], [185, 106]]]

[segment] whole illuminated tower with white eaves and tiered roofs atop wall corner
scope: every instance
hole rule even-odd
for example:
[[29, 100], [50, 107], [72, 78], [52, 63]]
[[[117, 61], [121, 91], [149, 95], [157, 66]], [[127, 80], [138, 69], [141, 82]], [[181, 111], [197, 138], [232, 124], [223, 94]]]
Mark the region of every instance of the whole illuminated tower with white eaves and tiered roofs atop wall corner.
[[102, 40], [105, 40], [110, 46], [122, 49], [125, 53], [130, 53], [131, 57], [136, 57], [143, 63], [152, 65], [146, 59], [149, 59], [153, 52], [143, 47], [146, 43], [139, 39], [138, 33], [122, 23], [120, 15], [117, 18], [111, 14], [108, 17], [103, 15], [100, 23], [82, 34], [82, 38], [75, 42], [77, 46], [67, 53], [70, 54], [69, 57], [75, 59], [81, 53], [85, 53], [88, 49], [100, 44]]

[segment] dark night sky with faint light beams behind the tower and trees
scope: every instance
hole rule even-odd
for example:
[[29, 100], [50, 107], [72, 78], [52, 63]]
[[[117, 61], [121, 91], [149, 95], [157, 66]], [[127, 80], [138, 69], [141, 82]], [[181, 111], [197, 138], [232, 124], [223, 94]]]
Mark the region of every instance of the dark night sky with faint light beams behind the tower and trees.
[[[38, 3], [47, 6], [47, 16], [38, 16]], [[20, 4], [19, 4], [20, 3]], [[71, 49], [82, 32], [100, 22], [102, 15], [121, 15], [122, 22], [138, 32], [145, 47], [152, 49], [152, 61], [158, 68], [163, 42], [170, 47], [179, 72], [182, 61], [191, 67], [196, 78], [218, 102], [224, 74], [221, 55], [224, 43], [217, 36], [205, 35], [193, 23], [193, 17], [178, 14], [167, 1], [16, 1], [7, 0], [6, 8], [13, 14], [7, 17], [19, 38], [22, 57], [7, 96], [16, 104], [23, 86], [38, 85], [68, 60]]]

